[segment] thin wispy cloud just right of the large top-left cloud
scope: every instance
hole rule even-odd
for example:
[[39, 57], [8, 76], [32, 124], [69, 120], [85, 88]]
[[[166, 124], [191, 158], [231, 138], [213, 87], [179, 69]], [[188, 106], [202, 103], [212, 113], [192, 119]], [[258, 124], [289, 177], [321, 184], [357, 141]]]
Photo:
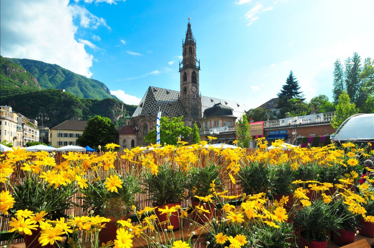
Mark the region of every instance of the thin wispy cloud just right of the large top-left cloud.
[[96, 29], [98, 26], [102, 25], [110, 29], [110, 26], [107, 25], [107, 21], [105, 21], [104, 18], [93, 15], [85, 7], [69, 5], [68, 8], [73, 18], [80, 18], [80, 26], [83, 28]]

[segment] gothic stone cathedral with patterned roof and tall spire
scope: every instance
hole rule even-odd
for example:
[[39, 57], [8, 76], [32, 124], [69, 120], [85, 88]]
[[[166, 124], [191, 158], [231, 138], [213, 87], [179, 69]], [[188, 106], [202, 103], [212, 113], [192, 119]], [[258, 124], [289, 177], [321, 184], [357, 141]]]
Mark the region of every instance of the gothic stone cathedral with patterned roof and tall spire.
[[[179, 63], [180, 91], [150, 86], [130, 118], [129, 125], [118, 130], [121, 147], [130, 148], [144, 145], [144, 137], [156, 126], [159, 110], [162, 112], [162, 116], [183, 116], [183, 121], [187, 126], [192, 127], [196, 122], [201, 130], [208, 131], [213, 127], [221, 127], [223, 123], [234, 126], [235, 120], [248, 110], [243, 103], [205, 97], [199, 94], [200, 60], [197, 60], [196, 57], [196, 40], [192, 35], [189, 19], [186, 38], [183, 41], [183, 61]], [[226, 115], [221, 116], [223, 109]], [[210, 118], [209, 121], [206, 121], [208, 113]], [[233, 123], [226, 122], [222, 118], [222, 121], [211, 122], [212, 116], [233, 118]]]

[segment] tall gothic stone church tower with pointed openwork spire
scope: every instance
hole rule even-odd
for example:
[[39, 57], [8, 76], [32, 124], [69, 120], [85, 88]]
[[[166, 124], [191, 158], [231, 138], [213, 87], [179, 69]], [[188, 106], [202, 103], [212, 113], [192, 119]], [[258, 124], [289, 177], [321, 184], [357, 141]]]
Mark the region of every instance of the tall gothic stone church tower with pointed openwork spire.
[[182, 45], [183, 61], [179, 63], [180, 72], [180, 101], [186, 110], [184, 119], [191, 124], [201, 118], [201, 97], [199, 94], [200, 60], [196, 59], [196, 41], [192, 36], [190, 18], [188, 18], [186, 40]]

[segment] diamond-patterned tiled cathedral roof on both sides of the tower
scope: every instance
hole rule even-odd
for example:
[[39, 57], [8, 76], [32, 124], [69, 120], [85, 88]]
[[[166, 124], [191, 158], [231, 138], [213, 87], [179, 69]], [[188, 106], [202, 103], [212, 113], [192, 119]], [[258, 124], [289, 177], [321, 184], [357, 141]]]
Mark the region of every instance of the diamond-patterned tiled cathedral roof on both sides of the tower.
[[[218, 99], [214, 97], [201, 96], [201, 115], [204, 110], [213, 107], [214, 104], [221, 103], [223, 106], [228, 106], [233, 109], [235, 117], [239, 118], [248, 108], [243, 103]], [[163, 88], [150, 86], [140, 101], [137, 109], [135, 109], [132, 117], [138, 115], [157, 115], [157, 112], [162, 110], [162, 115], [166, 116], [185, 116], [185, 110], [182, 103], [179, 101], [179, 91], [167, 90]]]

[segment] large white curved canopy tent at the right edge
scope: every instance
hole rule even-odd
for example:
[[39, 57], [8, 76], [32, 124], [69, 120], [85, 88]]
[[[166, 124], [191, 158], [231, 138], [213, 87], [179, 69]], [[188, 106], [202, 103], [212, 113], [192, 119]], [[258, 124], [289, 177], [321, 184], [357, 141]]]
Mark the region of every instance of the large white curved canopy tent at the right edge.
[[332, 141], [374, 141], [374, 114], [356, 114], [345, 120]]

